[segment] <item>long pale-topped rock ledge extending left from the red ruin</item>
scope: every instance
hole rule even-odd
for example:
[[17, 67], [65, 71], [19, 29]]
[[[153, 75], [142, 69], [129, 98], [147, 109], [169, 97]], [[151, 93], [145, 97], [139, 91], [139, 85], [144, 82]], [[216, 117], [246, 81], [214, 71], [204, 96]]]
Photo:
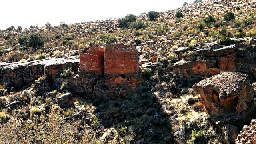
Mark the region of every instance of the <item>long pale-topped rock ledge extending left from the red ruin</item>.
[[77, 72], [78, 57], [46, 58], [24, 63], [3, 63], [0, 65], [0, 84], [5, 88], [22, 88], [24, 85], [34, 82], [40, 76], [46, 75], [52, 80], [59, 76], [64, 69], [71, 67]]

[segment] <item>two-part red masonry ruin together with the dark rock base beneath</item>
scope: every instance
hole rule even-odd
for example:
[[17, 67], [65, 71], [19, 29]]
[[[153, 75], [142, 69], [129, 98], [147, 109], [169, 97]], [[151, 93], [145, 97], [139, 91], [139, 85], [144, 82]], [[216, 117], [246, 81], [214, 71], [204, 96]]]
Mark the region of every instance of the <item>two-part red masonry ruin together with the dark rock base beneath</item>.
[[[97, 98], [124, 98], [132, 94], [142, 81], [136, 47], [121, 44], [92, 46], [80, 53], [78, 74], [94, 78]], [[130, 92], [128, 92], [130, 91]]]

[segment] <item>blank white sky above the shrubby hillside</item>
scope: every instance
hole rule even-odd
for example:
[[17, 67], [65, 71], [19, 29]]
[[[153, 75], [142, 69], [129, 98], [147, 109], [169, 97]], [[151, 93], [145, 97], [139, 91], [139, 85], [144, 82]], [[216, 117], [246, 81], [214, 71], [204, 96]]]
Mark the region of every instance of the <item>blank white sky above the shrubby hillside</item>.
[[0, 29], [10, 26], [29, 28], [46, 22], [59, 25], [164, 11], [181, 7], [194, 0], [0, 0]]

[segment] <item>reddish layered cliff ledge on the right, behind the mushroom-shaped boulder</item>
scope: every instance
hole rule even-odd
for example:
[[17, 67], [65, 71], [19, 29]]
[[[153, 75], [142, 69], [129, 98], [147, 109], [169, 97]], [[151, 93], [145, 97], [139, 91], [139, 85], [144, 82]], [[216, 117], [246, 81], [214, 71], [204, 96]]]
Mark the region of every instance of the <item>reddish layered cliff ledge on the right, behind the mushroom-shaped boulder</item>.
[[[249, 42], [243, 39], [232, 39], [235, 44], [221, 46], [220, 43], [208, 43], [194, 49], [194, 55], [173, 64], [173, 72], [178, 77], [191, 83], [199, 82], [219, 74], [221, 71], [242, 72], [254, 81], [256, 76], [256, 52], [251, 38]], [[187, 48], [174, 51], [180, 58], [188, 52]]]

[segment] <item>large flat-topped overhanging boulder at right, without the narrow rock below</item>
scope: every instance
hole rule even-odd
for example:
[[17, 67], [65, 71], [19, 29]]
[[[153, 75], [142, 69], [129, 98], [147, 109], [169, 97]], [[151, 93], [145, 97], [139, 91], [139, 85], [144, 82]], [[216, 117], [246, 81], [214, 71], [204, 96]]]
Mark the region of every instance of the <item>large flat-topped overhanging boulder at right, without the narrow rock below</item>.
[[249, 120], [255, 109], [254, 88], [247, 74], [225, 72], [194, 84], [210, 116], [240, 114]]

